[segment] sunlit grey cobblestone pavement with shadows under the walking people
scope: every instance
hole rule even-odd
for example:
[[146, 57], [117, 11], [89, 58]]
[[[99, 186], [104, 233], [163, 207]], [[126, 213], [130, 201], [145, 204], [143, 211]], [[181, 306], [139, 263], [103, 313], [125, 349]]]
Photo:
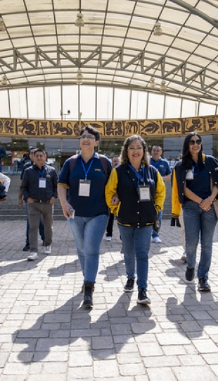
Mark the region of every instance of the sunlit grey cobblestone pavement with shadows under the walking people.
[[82, 306], [82, 273], [65, 221], [54, 223], [52, 253], [40, 241], [28, 262], [25, 222], [1, 222], [0, 380], [218, 380], [218, 229], [210, 271], [212, 293], [186, 282], [180, 229], [162, 222], [151, 244], [150, 306], [124, 294], [115, 224], [103, 239], [94, 308]]

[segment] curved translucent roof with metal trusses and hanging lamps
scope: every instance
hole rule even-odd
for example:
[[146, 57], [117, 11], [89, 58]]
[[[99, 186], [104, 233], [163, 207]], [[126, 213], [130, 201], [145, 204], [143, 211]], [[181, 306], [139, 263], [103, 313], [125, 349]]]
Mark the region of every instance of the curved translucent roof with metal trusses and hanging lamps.
[[75, 85], [81, 69], [85, 85], [217, 104], [217, 0], [0, 0], [0, 14], [0, 90]]

